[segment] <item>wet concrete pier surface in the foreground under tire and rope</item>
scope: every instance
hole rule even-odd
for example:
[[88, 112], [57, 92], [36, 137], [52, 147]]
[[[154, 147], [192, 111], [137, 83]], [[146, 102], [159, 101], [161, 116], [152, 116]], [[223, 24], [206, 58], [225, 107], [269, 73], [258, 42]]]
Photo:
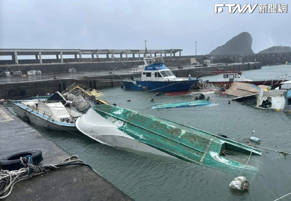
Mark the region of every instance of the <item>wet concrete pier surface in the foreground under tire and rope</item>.
[[[42, 136], [29, 124], [1, 106], [0, 128], [0, 158], [14, 152], [35, 149], [42, 151], [43, 161], [40, 164], [46, 165], [69, 156], [67, 152]], [[133, 199], [92, 169], [83, 165], [72, 165], [16, 183], [11, 194], [4, 200], [131, 201]]]

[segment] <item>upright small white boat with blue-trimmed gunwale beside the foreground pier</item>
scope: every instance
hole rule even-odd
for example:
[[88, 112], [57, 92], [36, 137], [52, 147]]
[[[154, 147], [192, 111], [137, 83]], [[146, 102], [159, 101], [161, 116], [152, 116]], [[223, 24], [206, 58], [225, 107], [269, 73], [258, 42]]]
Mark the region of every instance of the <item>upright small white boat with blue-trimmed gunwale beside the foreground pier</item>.
[[83, 115], [65, 107], [62, 102], [19, 100], [19, 102], [13, 102], [12, 107], [24, 121], [60, 131], [76, 131], [75, 122]]

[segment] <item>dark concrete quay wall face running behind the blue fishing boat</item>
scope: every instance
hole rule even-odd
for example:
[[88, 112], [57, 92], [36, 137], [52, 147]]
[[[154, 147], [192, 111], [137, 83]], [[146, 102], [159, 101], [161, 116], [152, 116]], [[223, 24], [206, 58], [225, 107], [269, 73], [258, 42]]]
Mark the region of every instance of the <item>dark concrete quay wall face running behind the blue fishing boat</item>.
[[[177, 77], [198, 77], [200, 74], [203, 76], [211, 75], [211, 71], [216, 71], [216, 68], [222, 68], [226, 71], [232, 71], [232, 67], [235, 66], [237, 71], [245, 71], [245, 70], [255, 70], [261, 68], [261, 63], [250, 63], [248, 64], [239, 64], [239, 65], [228, 65], [228, 66], [209, 66], [209, 67], [200, 67], [200, 68], [185, 68], [179, 70], [173, 70], [173, 73]], [[117, 71], [115, 71], [117, 72]], [[32, 82], [18, 82], [18, 83], [5, 83], [0, 84], [0, 99], [17, 99], [19, 97], [29, 97], [36, 96], [37, 94], [46, 94], [46, 93], [55, 93], [56, 91], [63, 91], [66, 87], [69, 87], [73, 83], [80, 83], [90, 88], [95, 88], [97, 90], [108, 88], [108, 87], [120, 87], [121, 82], [116, 81], [128, 77], [140, 77], [141, 73], [132, 73], [130, 74], [120, 74], [122, 71], [118, 72], [119, 74], [109, 74], [102, 76], [92, 76], [83, 78], [83, 80], [73, 80], [71, 78], [68, 79], [53, 79], [53, 80], [38, 80]], [[76, 74], [77, 75], [77, 74]], [[76, 76], [77, 77], [77, 76]], [[79, 77], [82, 79], [82, 77]], [[103, 80], [112, 80], [112, 81], [98, 81], [100, 79]], [[202, 77], [203, 79], [203, 77]], [[9, 95], [9, 90], [15, 90], [17, 95], [15, 97], [11, 97]]]

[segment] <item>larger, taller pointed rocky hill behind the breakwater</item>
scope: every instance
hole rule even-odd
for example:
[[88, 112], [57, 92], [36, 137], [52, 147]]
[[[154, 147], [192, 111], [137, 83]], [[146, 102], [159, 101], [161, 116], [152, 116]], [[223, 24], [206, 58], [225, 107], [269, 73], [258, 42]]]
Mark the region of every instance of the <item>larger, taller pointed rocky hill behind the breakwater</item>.
[[249, 32], [241, 32], [239, 35], [227, 41], [224, 45], [218, 46], [209, 54], [253, 54], [252, 36]]

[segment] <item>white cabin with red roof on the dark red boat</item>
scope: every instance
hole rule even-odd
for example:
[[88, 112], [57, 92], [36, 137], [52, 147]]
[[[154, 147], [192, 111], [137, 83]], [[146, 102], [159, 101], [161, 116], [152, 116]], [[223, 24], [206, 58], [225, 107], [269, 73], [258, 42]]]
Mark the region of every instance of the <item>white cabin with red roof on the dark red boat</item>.
[[218, 82], [252, 81], [246, 79], [246, 77], [242, 75], [242, 72], [235, 71], [235, 68], [233, 68], [233, 71], [225, 71], [224, 69], [217, 68], [216, 71], [212, 71], [211, 73], [219, 76]]

